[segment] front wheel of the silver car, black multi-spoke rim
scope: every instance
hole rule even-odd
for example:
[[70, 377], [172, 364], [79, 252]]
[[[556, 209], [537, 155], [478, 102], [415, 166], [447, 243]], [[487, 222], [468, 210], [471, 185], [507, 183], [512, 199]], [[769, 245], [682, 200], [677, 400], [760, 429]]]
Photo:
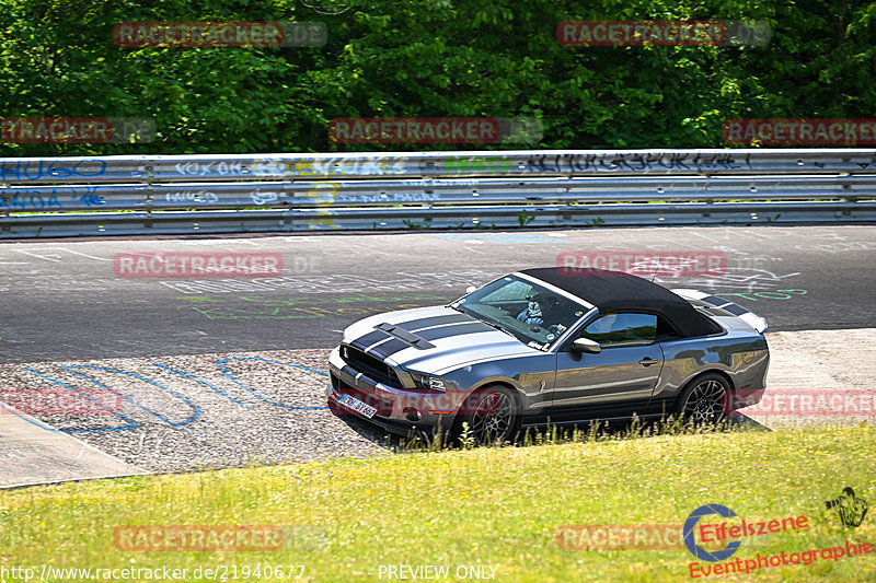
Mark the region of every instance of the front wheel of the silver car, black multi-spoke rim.
[[462, 405], [457, 417], [456, 436], [462, 434], [462, 423], [469, 423], [471, 438], [477, 445], [503, 444], [517, 435], [520, 415], [510, 388], [489, 385], [477, 389]]

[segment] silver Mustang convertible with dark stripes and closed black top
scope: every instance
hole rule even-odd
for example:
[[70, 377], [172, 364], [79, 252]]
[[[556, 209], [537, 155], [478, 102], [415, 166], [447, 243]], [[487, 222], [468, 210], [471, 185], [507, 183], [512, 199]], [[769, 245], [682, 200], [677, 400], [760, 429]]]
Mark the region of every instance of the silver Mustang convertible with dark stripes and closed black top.
[[760, 316], [618, 271], [539, 268], [446, 306], [367, 317], [330, 357], [328, 406], [392, 433], [480, 443], [529, 427], [680, 415], [722, 419], [760, 400]]

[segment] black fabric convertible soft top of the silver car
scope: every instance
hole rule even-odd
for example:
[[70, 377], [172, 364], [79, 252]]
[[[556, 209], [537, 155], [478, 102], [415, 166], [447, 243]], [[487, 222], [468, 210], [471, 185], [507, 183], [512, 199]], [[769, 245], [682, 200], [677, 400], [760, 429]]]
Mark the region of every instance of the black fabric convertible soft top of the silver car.
[[683, 298], [636, 276], [602, 269], [565, 272], [562, 267], [540, 267], [519, 272], [577, 295], [597, 306], [602, 314], [629, 311], [660, 314], [683, 337], [722, 331], [721, 326], [698, 312]]

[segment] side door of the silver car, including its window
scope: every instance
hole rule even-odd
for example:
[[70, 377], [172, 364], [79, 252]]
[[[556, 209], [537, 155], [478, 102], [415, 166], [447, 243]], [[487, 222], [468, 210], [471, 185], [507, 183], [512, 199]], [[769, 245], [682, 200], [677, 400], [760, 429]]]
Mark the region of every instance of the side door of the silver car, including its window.
[[[662, 368], [657, 316], [622, 312], [585, 324], [556, 353], [551, 419], [566, 422], [648, 412]], [[599, 342], [599, 353], [572, 349], [575, 338]]]

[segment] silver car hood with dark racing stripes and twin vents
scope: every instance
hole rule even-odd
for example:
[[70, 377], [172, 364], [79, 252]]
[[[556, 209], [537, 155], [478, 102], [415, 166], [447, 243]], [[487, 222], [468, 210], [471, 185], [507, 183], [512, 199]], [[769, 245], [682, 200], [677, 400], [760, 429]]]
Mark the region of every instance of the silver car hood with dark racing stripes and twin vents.
[[416, 372], [441, 374], [472, 361], [543, 354], [517, 338], [450, 307], [417, 307], [370, 316], [344, 330], [344, 343]]

